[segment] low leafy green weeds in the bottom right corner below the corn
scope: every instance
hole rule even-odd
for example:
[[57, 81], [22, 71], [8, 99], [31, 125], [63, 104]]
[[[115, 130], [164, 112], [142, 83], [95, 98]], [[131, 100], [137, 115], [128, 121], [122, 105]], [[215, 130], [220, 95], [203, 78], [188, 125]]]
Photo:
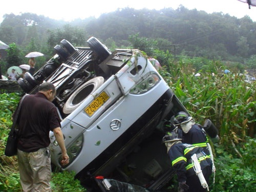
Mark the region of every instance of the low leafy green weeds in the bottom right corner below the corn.
[[216, 183], [211, 185], [211, 191], [256, 191], [256, 139], [246, 138], [245, 145], [240, 144], [237, 154], [230, 154], [216, 147]]

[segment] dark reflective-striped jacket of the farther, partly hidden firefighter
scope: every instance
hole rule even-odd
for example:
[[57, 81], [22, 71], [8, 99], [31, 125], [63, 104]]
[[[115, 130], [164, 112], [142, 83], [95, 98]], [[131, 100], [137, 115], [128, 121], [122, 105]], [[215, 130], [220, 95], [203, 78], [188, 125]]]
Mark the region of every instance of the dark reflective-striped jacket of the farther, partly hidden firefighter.
[[207, 148], [208, 138], [197, 124], [192, 125], [191, 129], [186, 134], [183, 133], [182, 142], [203, 147], [204, 153], [207, 155], [210, 154]]

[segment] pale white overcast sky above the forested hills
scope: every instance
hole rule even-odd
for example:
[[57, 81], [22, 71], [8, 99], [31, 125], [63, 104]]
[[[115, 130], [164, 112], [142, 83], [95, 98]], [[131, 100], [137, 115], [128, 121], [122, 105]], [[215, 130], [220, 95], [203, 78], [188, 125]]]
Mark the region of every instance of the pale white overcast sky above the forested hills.
[[223, 12], [230, 16], [241, 18], [248, 15], [253, 22], [256, 22], [256, 7], [248, 8], [246, 3], [238, 0], [7, 0], [1, 2], [0, 23], [3, 21], [4, 14], [14, 13], [36, 13], [54, 19], [71, 21], [75, 18], [98, 17], [102, 13], [108, 13], [118, 8], [135, 9], [177, 9], [179, 5], [185, 8], [206, 11], [207, 13]]

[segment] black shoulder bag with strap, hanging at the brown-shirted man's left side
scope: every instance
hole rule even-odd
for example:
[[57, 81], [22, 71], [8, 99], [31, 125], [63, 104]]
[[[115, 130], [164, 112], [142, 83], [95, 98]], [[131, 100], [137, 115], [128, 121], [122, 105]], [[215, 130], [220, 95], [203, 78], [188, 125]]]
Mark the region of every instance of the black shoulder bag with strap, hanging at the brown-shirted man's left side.
[[27, 96], [27, 94], [24, 95], [22, 97], [22, 99], [20, 99], [18, 109], [16, 111], [15, 117], [14, 117], [13, 122], [12, 122], [11, 131], [9, 133], [7, 143], [6, 143], [6, 147], [5, 147], [5, 155], [8, 156], [8, 157], [12, 157], [12, 156], [17, 155], [18, 129], [15, 129], [15, 127], [16, 127], [16, 122], [17, 122], [17, 119], [18, 119], [18, 116], [19, 116], [19, 111], [20, 111], [20, 108], [22, 106], [23, 99], [26, 96]]

